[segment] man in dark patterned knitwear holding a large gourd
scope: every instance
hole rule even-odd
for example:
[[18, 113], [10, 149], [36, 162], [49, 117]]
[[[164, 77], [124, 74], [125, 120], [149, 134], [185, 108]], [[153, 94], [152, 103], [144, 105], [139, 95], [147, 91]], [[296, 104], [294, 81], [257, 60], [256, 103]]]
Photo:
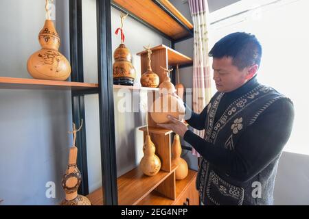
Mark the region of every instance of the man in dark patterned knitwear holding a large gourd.
[[[209, 52], [218, 92], [187, 123], [168, 116], [172, 129], [201, 154], [196, 189], [202, 205], [273, 205], [279, 157], [292, 130], [293, 103], [258, 83], [262, 47], [251, 34], [233, 33]], [[271, 73], [268, 73], [271, 74]]]

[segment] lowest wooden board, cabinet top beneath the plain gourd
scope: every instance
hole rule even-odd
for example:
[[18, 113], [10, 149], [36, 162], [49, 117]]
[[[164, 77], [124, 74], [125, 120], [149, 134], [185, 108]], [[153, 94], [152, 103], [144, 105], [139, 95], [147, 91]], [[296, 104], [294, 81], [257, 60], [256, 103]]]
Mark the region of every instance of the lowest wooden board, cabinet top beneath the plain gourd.
[[181, 196], [181, 193], [186, 190], [190, 183], [195, 179], [196, 171], [189, 170], [187, 177], [183, 180], [176, 180], [176, 199], [172, 200], [166, 198], [157, 191], [152, 191], [148, 196], [141, 200], [137, 205], [174, 205], [177, 202], [177, 198]]

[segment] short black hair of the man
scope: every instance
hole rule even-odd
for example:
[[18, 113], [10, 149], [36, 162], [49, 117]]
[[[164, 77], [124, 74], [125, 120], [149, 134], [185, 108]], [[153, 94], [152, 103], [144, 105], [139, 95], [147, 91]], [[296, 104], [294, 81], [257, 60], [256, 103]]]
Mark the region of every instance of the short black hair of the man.
[[258, 64], [260, 66], [262, 46], [258, 39], [243, 32], [229, 34], [216, 42], [209, 51], [209, 56], [214, 58], [231, 57], [233, 65], [239, 70]]

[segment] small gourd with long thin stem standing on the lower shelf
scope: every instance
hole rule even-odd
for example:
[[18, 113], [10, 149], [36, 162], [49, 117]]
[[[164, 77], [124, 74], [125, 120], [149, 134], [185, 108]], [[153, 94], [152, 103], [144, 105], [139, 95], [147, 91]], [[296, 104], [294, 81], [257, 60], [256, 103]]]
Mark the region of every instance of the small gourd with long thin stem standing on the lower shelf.
[[161, 168], [161, 161], [159, 157], [155, 154], [156, 147], [150, 139], [148, 130], [148, 113], [146, 110], [144, 112], [146, 114], [147, 136], [143, 146], [144, 157], [141, 158], [139, 168], [141, 168], [141, 171], [144, 172], [145, 175], [154, 176], [159, 172]]

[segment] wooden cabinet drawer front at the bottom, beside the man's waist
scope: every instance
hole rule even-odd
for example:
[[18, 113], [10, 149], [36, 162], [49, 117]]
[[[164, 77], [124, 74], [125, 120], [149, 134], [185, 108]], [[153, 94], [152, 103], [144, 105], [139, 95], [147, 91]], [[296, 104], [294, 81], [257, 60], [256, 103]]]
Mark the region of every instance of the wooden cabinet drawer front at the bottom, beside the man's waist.
[[181, 196], [176, 199], [174, 205], [199, 205], [198, 191], [195, 188], [195, 181], [192, 181]]

